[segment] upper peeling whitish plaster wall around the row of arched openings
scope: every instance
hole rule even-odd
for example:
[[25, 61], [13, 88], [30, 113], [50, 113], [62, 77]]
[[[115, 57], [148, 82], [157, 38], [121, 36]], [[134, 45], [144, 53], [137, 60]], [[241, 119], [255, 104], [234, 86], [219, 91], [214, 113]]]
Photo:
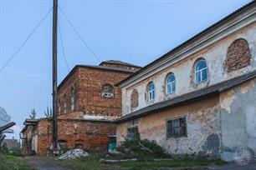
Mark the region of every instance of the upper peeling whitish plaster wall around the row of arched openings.
[[[227, 57], [228, 47], [238, 38], [244, 38], [248, 41], [250, 49], [251, 61], [248, 67], [243, 67], [234, 72], [226, 72], [223, 64]], [[171, 56], [170, 56], [171, 57]], [[194, 63], [198, 58], [203, 57], [207, 61], [208, 67], [208, 80], [206, 82], [195, 84], [194, 83]], [[245, 28], [228, 35], [222, 40], [213, 43], [212, 45], [204, 48], [203, 50], [192, 54], [180, 62], [176, 62], [165, 69], [159, 68], [159, 72], [155, 75], [135, 82], [130, 87], [122, 88], [122, 107], [123, 115], [131, 112], [131, 92], [136, 89], [139, 93], [139, 106], [133, 108], [132, 111], [141, 109], [151, 105], [154, 102], [162, 102], [166, 99], [177, 97], [187, 92], [198, 90], [202, 87], [211, 86], [218, 82], [223, 82], [233, 77], [238, 77], [246, 72], [255, 70], [256, 68], [256, 23], [253, 23]], [[171, 95], [166, 95], [165, 79], [169, 72], [173, 72], [176, 76], [177, 90]], [[154, 82], [156, 86], [156, 99], [154, 102], [146, 101], [146, 86], [148, 82]]]

